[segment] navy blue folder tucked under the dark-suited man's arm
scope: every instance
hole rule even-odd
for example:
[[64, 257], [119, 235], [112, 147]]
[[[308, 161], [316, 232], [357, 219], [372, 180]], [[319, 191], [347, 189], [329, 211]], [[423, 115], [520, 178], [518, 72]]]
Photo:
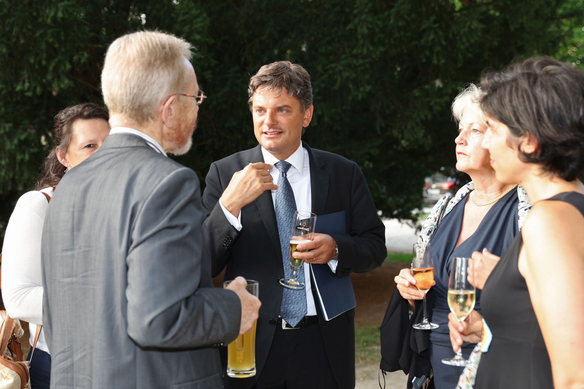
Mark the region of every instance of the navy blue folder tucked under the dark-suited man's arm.
[[[317, 216], [314, 230], [319, 234], [345, 235], [345, 211]], [[318, 301], [326, 321], [357, 306], [350, 276], [337, 277], [330, 273], [329, 265], [310, 265]], [[328, 269], [327, 269], [328, 268]]]

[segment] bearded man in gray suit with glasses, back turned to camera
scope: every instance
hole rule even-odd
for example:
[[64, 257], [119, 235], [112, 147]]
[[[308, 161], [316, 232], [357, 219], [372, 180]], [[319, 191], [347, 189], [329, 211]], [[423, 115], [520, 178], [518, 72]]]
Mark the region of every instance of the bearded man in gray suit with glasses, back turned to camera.
[[107, 50], [112, 131], [61, 180], [43, 229], [51, 388], [221, 388], [210, 346], [258, 318], [242, 277], [213, 289], [199, 180], [166, 157], [189, 150], [204, 99], [190, 55], [158, 32]]

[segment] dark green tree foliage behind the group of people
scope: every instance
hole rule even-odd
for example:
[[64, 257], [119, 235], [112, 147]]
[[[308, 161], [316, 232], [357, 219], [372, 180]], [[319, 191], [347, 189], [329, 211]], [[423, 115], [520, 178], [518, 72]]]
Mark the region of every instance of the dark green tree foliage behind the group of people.
[[211, 162], [257, 144], [246, 85], [287, 59], [312, 77], [304, 140], [356, 161], [384, 216], [407, 219], [423, 179], [454, 172], [450, 103], [461, 86], [531, 55], [581, 66], [580, 1], [0, 0], [0, 239], [53, 145], [54, 114], [103, 103], [103, 57], [122, 34], [159, 29], [196, 47], [209, 98], [192, 151], [177, 159], [201, 180]]

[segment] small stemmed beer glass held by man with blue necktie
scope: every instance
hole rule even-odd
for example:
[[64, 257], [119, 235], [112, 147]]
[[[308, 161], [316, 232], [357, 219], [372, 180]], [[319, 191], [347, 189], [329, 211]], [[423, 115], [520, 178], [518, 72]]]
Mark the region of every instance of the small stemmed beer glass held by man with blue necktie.
[[[308, 250], [297, 250], [296, 246], [312, 240], [314, 227], [317, 225], [317, 216], [308, 211], [296, 211], [294, 213], [294, 225], [290, 230], [290, 279], [281, 279], [280, 284], [288, 289], [304, 289], [304, 283], [297, 281], [298, 273], [302, 269], [304, 259], [297, 259], [292, 256], [295, 251], [306, 252]], [[305, 275], [306, 276], [306, 275]]]

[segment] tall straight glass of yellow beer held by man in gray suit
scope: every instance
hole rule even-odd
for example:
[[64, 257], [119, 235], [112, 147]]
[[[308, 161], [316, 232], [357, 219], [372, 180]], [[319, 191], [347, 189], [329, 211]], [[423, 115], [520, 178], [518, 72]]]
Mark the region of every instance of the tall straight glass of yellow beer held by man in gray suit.
[[[246, 289], [255, 297], [258, 294], [258, 282], [254, 280], [246, 280], [248, 286]], [[225, 281], [223, 287], [227, 287], [231, 281]], [[255, 329], [256, 323], [253, 322], [253, 327], [250, 332], [243, 335], [238, 335], [235, 341], [229, 343], [227, 346], [227, 375], [235, 378], [246, 378], [255, 376]]]

